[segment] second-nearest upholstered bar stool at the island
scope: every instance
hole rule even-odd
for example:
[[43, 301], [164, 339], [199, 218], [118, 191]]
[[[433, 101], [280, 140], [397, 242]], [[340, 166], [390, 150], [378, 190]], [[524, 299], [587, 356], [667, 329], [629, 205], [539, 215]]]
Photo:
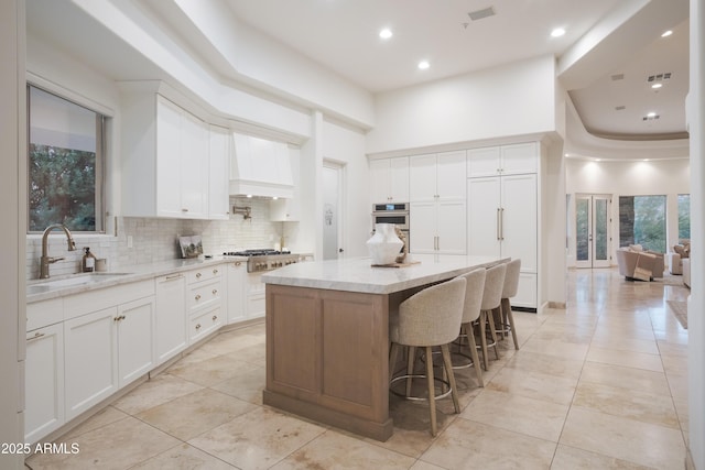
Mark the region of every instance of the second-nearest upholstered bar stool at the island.
[[[475, 367], [475, 373], [477, 374], [477, 381], [480, 386], [485, 386], [482, 382], [482, 365], [480, 364], [479, 357], [477, 356], [477, 342], [475, 341], [475, 335], [473, 334], [473, 323], [477, 321], [480, 317], [480, 307], [482, 305], [482, 292], [485, 291], [485, 277], [487, 276], [487, 270], [479, 269], [470, 271], [469, 273], [462, 274], [460, 277], [465, 278], [465, 304], [463, 305], [463, 323], [460, 324], [459, 341], [459, 354], [470, 359], [471, 362], [466, 364], [454, 364], [453, 369], [465, 369]], [[470, 356], [467, 357], [463, 352], [463, 341], [467, 340]]]

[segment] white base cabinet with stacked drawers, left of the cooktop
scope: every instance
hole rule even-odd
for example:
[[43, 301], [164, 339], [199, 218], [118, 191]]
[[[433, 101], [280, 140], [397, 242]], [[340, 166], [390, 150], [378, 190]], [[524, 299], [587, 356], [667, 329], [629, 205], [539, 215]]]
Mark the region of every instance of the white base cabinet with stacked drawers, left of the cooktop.
[[189, 271], [186, 273], [186, 280], [188, 342], [193, 345], [223, 325], [224, 284], [220, 266]]

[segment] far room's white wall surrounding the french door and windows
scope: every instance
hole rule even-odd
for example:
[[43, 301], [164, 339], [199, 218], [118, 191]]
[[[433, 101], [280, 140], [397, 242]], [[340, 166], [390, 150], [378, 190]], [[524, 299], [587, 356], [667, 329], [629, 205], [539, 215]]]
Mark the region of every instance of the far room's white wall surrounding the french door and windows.
[[[595, 162], [566, 159], [566, 193], [575, 204], [576, 194], [611, 195], [610, 251], [619, 247], [619, 196], [666, 196], [666, 247], [677, 242], [677, 195], [688, 194], [691, 164], [688, 160], [652, 162]], [[575, 265], [575, 211], [568, 219], [568, 265]], [[612, 259], [612, 264], [616, 260]]]

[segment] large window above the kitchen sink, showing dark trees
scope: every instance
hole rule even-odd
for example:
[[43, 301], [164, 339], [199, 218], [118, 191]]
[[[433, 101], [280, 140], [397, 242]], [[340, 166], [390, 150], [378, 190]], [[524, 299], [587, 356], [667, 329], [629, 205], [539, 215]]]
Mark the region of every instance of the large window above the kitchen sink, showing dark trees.
[[105, 117], [28, 87], [29, 227], [101, 232]]

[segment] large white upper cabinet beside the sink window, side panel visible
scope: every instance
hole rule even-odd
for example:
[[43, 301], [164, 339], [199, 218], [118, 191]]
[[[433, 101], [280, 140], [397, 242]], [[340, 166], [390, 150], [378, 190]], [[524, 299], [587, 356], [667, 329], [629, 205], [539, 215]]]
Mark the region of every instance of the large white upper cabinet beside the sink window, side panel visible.
[[122, 212], [207, 219], [208, 125], [156, 94], [123, 97]]

